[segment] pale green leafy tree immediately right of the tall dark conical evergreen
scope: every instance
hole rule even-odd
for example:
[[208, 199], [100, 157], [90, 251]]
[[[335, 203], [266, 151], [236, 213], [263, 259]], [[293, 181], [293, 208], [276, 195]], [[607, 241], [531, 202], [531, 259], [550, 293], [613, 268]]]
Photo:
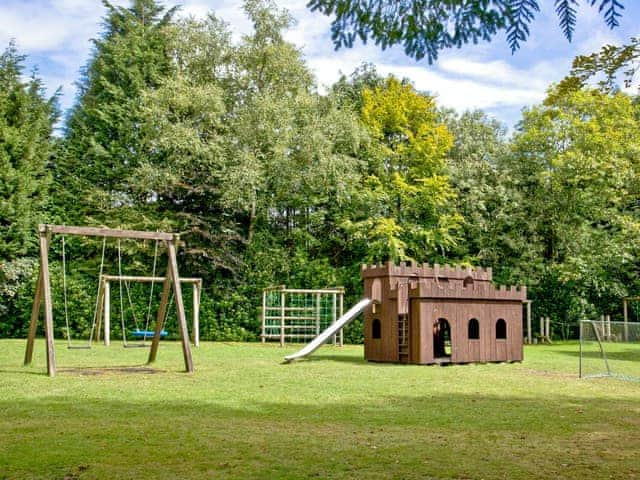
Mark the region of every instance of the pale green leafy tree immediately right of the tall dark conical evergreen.
[[131, 183], [136, 209], [150, 224], [183, 232], [193, 271], [235, 270], [242, 238], [221, 200], [231, 131], [225, 122], [230, 33], [210, 15], [181, 20], [168, 36], [172, 74], [141, 96], [141, 158]]

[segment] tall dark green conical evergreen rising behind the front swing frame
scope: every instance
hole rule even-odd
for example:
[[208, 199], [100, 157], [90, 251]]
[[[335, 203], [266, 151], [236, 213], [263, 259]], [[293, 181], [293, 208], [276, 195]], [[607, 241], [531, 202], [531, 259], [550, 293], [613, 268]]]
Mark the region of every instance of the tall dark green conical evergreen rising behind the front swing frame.
[[164, 12], [156, 0], [133, 0], [129, 8], [103, 4], [105, 30], [94, 40], [68, 118], [57, 180], [66, 189], [65, 202], [73, 199], [85, 207], [68, 212], [69, 221], [89, 215], [103, 223], [126, 223], [126, 207], [134, 204], [131, 174], [142, 151], [141, 93], [171, 70], [167, 26], [175, 8]]

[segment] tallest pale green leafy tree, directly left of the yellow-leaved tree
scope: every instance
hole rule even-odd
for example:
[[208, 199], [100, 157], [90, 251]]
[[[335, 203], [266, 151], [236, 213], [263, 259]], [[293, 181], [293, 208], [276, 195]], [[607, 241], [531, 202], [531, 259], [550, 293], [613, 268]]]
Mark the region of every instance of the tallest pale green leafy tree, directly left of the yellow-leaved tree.
[[283, 40], [289, 15], [269, 2], [245, 8], [255, 33], [238, 46], [229, 92], [225, 203], [248, 241], [263, 229], [307, 248], [354, 185], [363, 132], [350, 111], [314, 93], [300, 52]]

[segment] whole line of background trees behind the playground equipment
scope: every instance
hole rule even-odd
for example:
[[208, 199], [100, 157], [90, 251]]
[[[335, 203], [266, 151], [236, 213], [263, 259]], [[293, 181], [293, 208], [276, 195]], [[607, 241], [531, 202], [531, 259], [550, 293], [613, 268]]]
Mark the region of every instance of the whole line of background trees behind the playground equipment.
[[[211, 340], [256, 339], [266, 286], [355, 301], [362, 263], [490, 266], [565, 337], [638, 294], [640, 105], [616, 76], [635, 74], [637, 39], [576, 59], [508, 136], [371, 65], [319, 93], [268, 0], [245, 1], [240, 41], [214, 13], [104, 5], [60, 136], [58, 94], [25, 79], [14, 45], [0, 56], [0, 336], [25, 335], [40, 222], [180, 232]], [[101, 245], [67, 239], [64, 265], [52, 245], [58, 336], [63, 283], [72, 335], [88, 336]], [[154, 252], [110, 244], [103, 268], [150, 275]], [[128, 287], [122, 312], [142, 318], [148, 286]]]

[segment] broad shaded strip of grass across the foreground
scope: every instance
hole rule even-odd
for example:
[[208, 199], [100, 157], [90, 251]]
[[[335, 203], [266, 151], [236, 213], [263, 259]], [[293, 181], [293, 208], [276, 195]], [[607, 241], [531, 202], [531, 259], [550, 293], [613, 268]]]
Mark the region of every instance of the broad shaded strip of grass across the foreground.
[[[366, 403], [247, 397], [232, 406], [239, 399], [213, 392], [182, 401], [130, 401], [126, 391], [120, 401], [2, 400], [0, 470], [6, 478], [67, 478], [80, 467], [91, 478], [632, 478], [640, 448], [640, 418], [621, 414], [637, 411], [636, 401], [449, 392]], [[611, 452], [608, 438], [626, 440]]]

